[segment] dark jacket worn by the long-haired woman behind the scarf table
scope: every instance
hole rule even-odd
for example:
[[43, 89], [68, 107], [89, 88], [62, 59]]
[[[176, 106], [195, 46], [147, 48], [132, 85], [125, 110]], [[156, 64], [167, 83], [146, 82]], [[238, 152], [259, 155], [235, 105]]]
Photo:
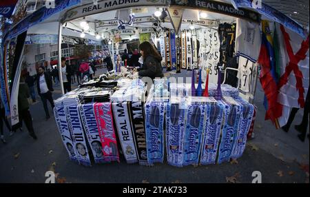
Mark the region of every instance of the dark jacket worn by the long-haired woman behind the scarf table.
[[158, 59], [155, 59], [152, 55], [147, 56], [143, 61], [143, 67], [139, 71], [139, 76], [148, 76], [151, 79], [163, 77], [161, 62], [158, 61]]

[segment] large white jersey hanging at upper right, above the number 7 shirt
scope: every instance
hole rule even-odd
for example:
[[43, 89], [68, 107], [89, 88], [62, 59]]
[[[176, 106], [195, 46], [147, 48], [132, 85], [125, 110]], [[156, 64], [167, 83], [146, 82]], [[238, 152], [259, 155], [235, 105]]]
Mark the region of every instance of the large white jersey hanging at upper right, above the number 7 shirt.
[[243, 19], [237, 19], [236, 45], [237, 56], [244, 56], [256, 63], [260, 54], [262, 37], [258, 23], [252, 23]]

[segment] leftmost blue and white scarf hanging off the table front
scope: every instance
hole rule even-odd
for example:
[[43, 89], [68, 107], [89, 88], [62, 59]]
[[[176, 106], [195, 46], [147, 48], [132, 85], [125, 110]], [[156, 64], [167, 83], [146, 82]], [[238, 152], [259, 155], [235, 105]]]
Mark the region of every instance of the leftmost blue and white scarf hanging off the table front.
[[63, 105], [54, 107], [54, 117], [59, 129], [59, 133], [61, 134], [63, 145], [65, 145], [65, 149], [67, 149], [70, 160], [74, 161], [75, 163], [79, 163], [77, 152], [74, 148], [72, 136], [70, 134], [70, 129], [68, 127], [67, 116], [65, 115], [65, 107], [63, 107]]

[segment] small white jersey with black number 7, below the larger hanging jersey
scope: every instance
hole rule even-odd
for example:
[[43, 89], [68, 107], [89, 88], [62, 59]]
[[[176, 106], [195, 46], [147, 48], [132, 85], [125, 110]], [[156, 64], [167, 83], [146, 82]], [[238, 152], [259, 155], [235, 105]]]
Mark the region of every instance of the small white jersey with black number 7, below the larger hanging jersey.
[[251, 74], [254, 63], [243, 56], [239, 57], [238, 79], [240, 80], [239, 88], [243, 92], [250, 92], [251, 88]]

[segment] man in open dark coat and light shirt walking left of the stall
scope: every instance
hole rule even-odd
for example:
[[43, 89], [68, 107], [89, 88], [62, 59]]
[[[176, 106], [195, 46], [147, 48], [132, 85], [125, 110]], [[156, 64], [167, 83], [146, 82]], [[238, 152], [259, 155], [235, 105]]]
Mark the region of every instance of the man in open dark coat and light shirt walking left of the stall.
[[52, 76], [50, 76], [48, 72], [45, 72], [45, 68], [43, 66], [40, 66], [38, 71], [39, 72], [36, 78], [38, 94], [43, 103], [45, 118], [48, 120], [50, 118], [50, 113], [48, 112], [48, 101], [50, 101], [50, 105], [52, 106], [52, 109], [54, 109], [54, 100], [52, 98], [52, 92], [54, 92]]

